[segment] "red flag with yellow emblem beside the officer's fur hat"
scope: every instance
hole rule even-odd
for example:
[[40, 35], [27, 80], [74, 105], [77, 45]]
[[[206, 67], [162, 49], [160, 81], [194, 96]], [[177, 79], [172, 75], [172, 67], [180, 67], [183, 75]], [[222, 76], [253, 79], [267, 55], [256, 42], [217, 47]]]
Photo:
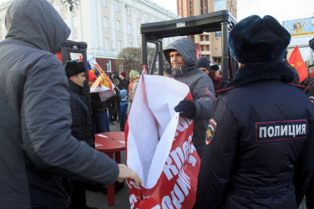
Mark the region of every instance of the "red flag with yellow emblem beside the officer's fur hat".
[[300, 76], [300, 82], [302, 82], [307, 77], [308, 73], [298, 46], [292, 51], [288, 63], [297, 69]]

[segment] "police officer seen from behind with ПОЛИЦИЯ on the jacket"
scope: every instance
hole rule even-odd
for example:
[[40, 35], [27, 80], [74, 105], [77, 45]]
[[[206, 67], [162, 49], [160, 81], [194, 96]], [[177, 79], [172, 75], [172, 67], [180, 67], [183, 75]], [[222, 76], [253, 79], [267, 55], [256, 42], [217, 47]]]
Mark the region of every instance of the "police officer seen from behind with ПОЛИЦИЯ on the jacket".
[[314, 109], [289, 84], [291, 36], [271, 16], [239, 21], [228, 40], [241, 64], [213, 107], [196, 208], [298, 208], [314, 165]]

